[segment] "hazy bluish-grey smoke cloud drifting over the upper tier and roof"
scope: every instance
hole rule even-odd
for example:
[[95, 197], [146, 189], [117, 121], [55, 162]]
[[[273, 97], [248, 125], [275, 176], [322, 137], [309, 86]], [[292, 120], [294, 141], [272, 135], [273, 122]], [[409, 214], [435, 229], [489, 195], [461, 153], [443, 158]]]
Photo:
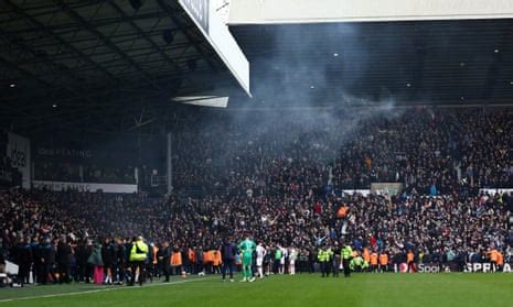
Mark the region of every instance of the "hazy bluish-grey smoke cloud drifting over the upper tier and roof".
[[[200, 116], [196, 132], [205, 140], [201, 150], [207, 167], [229, 176], [237, 167], [259, 173], [277, 160], [308, 160], [328, 175], [340, 150], [365, 136], [365, 123], [400, 116], [386, 87], [378, 101], [370, 98], [375, 95], [359, 97], [348, 90], [373, 69], [359, 26], [272, 25], [261, 31], [263, 46], [249, 55], [254, 98]], [[205, 146], [209, 140], [221, 142]], [[245, 156], [257, 156], [258, 165], [244, 165], [255, 161]]]

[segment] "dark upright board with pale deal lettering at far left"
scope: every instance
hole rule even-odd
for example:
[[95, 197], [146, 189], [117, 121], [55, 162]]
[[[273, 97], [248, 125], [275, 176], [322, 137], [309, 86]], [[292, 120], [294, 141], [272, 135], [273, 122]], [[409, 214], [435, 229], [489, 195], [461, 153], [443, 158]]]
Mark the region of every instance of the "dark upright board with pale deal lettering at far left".
[[30, 140], [15, 133], [8, 133], [7, 156], [11, 160], [11, 166], [21, 173], [21, 186], [24, 189], [31, 187], [31, 157]]

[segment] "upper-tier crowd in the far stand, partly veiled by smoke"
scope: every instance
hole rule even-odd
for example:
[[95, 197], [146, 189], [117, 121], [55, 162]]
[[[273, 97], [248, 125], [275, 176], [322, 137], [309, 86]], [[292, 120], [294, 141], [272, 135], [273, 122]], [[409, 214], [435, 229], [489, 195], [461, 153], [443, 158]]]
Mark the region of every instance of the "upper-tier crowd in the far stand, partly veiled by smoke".
[[175, 138], [173, 185], [257, 189], [284, 176], [320, 184], [332, 168], [341, 189], [380, 182], [419, 193], [513, 186], [510, 110], [317, 112], [191, 120]]

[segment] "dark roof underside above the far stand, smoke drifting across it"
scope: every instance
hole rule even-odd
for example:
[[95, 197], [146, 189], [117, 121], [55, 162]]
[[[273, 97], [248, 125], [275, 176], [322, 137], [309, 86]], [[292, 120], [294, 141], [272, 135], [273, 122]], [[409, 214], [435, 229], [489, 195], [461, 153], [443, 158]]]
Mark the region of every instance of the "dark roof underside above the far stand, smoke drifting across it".
[[231, 31], [264, 105], [513, 100], [511, 19], [234, 24]]

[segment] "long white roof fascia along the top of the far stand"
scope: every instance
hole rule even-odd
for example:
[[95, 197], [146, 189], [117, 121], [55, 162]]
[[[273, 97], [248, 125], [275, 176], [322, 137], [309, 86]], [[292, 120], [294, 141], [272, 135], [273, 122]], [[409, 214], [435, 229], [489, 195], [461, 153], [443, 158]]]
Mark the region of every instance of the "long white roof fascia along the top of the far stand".
[[513, 18], [513, 0], [232, 0], [228, 24]]

